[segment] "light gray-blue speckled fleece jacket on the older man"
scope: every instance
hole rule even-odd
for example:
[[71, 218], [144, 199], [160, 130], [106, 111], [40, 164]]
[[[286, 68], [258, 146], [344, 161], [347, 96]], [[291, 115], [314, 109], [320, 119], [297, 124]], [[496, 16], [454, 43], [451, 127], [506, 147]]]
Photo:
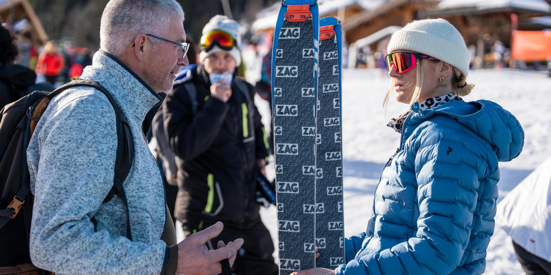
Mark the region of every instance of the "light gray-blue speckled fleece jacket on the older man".
[[[98, 81], [130, 124], [134, 163], [124, 182], [126, 207], [111, 189], [117, 149], [115, 111], [91, 87], [53, 98], [31, 138], [27, 158], [35, 195], [30, 232], [33, 263], [56, 274], [160, 274], [169, 248], [163, 181], [142, 133], [146, 114], [161, 97], [109, 54], [98, 52], [83, 79]], [[91, 217], [98, 221], [97, 232]]]

